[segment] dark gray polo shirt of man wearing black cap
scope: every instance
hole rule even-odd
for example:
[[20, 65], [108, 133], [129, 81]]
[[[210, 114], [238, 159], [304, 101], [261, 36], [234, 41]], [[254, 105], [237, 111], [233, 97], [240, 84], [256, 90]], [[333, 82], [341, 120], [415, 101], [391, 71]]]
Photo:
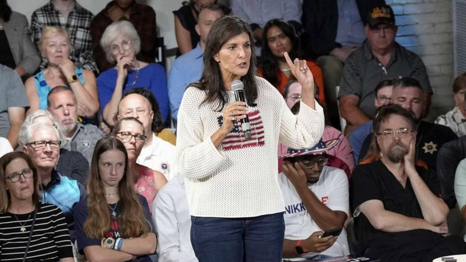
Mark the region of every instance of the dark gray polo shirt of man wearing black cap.
[[395, 51], [387, 66], [372, 54], [369, 42], [356, 49], [346, 60], [340, 81], [340, 94], [359, 97], [359, 108], [369, 117], [374, 117], [374, 89], [385, 79], [412, 77], [421, 83], [427, 93], [433, 93], [426, 66], [415, 53], [395, 42]]

